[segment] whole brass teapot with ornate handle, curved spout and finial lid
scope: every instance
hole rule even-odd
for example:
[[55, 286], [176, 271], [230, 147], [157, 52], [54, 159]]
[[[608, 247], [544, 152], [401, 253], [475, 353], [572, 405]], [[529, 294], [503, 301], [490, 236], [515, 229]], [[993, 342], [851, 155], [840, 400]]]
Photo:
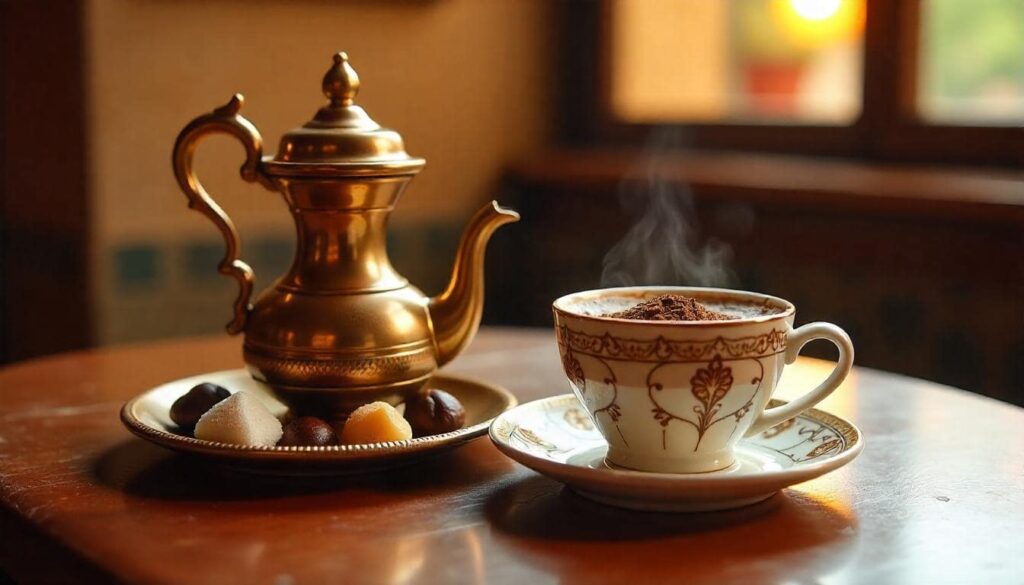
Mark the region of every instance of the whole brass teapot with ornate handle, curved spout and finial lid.
[[[428, 298], [388, 259], [388, 216], [424, 159], [354, 103], [359, 78], [345, 53], [324, 76], [330, 101], [263, 157], [259, 131], [239, 114], [243, 96], [193, 120], [174, 144], [174, 174], [188, 206], [220, 228], [218, 269], [239, 283], [230, 334], [243, 357], [298, 414], [340, 419], [373, 401], [392, 404], [419, 389], [470, 342], [483, 309], [483, 257], [492, 234], [519, 215], [492, 202], [462, 236], [447, 288]], [[193, 171], [199, 141], [227, 133], [245, 145], [242, 178], [280, 192], [298, 247], [288, 274], [250, 303], [253, 271], [239, 258], [230, 218]]]

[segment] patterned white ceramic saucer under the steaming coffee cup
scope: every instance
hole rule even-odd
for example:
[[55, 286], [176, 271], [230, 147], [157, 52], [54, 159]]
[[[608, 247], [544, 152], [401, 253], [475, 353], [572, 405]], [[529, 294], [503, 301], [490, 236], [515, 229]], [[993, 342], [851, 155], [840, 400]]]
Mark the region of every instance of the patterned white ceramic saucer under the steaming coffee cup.
[[[784, 404], [772, 401], [770, 406]], [[572, 394], [522, 405], [490, 425], [502, 453], [580, 495], [638, 510], [711, 511], [760, 502], [853, 460], [863, 448], [849, 421], [811, 409], [740, 442], [737, 463], [709, 473], [611, 468], [607, 444]]]

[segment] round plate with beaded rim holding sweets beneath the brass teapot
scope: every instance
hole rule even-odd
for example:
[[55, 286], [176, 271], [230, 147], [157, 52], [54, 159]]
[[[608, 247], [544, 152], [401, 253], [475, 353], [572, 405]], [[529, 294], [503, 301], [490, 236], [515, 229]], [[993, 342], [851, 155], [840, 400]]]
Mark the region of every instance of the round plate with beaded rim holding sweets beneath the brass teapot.
[[516, 405], [515, 396], [494, 384], [451, 374], [437, 374], [429, 384], [459, 399], [466, 409], [463, 428], [389, 443], [337, 447], [247, 447], [200, 441], [180, 434], [171, 419], [171, 405], [200, 382], [213, 382], [231, 392], [252, 392], [282, 418], [288, 408], [270, 388], [246, 370], [211, 372], [151, 388], [128, 401], [121, 420], [128, 430], [157, 445], [199, 455], [245, 471], [285, 475], [337, 475], [415, 463], [426, 456], [463, 445], [482, 435], [492, 420]]

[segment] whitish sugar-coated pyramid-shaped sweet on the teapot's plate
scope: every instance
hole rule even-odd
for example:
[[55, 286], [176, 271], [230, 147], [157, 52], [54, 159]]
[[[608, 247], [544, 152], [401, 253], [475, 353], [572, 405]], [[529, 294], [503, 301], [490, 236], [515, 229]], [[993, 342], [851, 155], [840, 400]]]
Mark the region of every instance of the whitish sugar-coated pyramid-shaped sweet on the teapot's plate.
[[283, 432], [281, 421], [248, 392], [217, 403], [196, 423], [196, 438], [233, 445], [272, 447]]

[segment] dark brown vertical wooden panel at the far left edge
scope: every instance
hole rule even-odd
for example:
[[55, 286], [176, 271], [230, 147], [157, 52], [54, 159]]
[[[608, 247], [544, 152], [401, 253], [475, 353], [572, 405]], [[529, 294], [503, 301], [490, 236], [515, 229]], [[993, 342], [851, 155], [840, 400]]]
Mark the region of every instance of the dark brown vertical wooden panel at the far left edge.
[[92, 341], [83, 17], [0, 2], [0, 363]]

